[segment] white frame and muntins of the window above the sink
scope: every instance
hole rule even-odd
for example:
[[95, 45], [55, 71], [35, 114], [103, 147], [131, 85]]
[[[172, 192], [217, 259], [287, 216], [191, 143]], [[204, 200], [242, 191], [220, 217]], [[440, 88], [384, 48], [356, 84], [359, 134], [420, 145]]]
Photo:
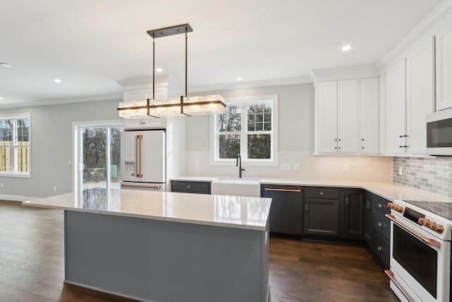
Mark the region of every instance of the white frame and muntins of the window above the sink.
[[[246, 165], [278, 165], [278, 95], [256, 95], [242, 98], [226, 98], [226, 105], [240, 105], [242, 107], [242, 130], [240, 132], [240, 155], [242, 163]], [[248, 158], [248, 135], [253, 132], [248, 131], [247, 110], [248, 105], [272, 104], [271, 131], [270, 134], [270, 158]], [[236, 162], [236, 158], [219, 158], [218, 139], [218, 117], [210, 116], [210, 164], [211, 165], [231, 165]], [[262, 131], [259, 133], [268, 131]]]

